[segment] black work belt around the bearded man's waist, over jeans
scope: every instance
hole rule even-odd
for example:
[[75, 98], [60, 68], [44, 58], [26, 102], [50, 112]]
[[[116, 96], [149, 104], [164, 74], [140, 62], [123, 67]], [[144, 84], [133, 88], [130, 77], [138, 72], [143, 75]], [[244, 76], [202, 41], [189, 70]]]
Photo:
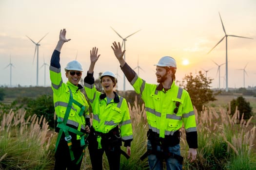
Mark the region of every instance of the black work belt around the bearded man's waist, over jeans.
[[[168, 158], [174, 158], [174, 159], [177, 159], [178, 162], [182, 165], [183, 157], [175, 153], [170, 153], [168, 150], [168, 147], [173, 147], [179, 144], [180, 136], [181, 136], [180, 131], [176, 131], [172, 136], [168, 135], [162, 138], [162, 137], [159, 137], [159, 134], [153, 132], [150, 129], [147, 132], [147, 136], [148, 136], [148, 140], [150, 140], [151, 142], [152, 150], [148, 149], [147, 152], [140, 157], [141, 161], [144, 160], [148, 155], [155, 154], [158, 157], [158, 159], [160, 159], [161, 161], [166, 161]], [[160, 151], [157, 151], [157, 146], [160, 146], [161, 148]]]

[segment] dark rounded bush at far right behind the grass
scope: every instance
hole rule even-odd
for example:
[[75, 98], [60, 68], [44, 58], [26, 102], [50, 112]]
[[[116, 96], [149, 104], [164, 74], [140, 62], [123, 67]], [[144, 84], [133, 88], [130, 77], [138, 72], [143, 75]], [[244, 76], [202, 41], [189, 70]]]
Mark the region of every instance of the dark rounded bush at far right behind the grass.
[[251, 116], [253, 116], [253, 108], [250, 105], [250, 102], [246, 102], [245, 99], [242, 96], [239, 96], [236, 99], [233, 99], [230, 102], [231, 106], [231, 115], [234, 115], [236, 112], [236, 106], [237, 110], [239, 110], [239, 119], [241, 120], [242, 114], [244, 114], [243, 119], [250, 119]]

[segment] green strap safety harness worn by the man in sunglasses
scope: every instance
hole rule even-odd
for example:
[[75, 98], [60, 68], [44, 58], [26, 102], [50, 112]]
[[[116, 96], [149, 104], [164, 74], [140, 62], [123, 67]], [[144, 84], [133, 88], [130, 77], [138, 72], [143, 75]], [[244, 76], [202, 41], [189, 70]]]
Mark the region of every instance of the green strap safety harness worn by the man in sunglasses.
[[63, 121], [59, 121], [58, 125], [57, 125], [57, 127], [59, 128], [59, 135], [58, 135], [57, 142], [56, 142], [55, 152], [57, 151], [57, 148], [58, 148], [59, 141], [60, 141], [60, 138], [62, 136], [62, 133], [64, 133], [65, 134], [65, 140], [67, 141], [67, 145], [68, 145], [68, 148], [69, 148], [69, 153], [70, 153], [71, 161], [74, 161], [75, 157], [74, 157], [74, 153], [72, 151], [72, 141], [71, 141], [72, 137], [71, 137], [71, 135], [69, 135], [69, 132], [72, 132], [72, 133], [74, 133], [76, 135], [79, 135], [81, 137], [81, 139], [80, 139], [80, 146], [84, 146], [83, 152], [82, 152], [81, 156], [79, 157], [78, 161], [76, 162], [76, 164], [79, 164], [80, 160], [82, 159], [83, 155], [85, 154], [85, 148], [88, 145], [88, 143], [85, 142], [85, 140], [88, 137], [88, 134], [84, 134], [84, 133], [78, 131], [75, 128], [67, 126], [66, 124], [67, 124], [69, 113], [70, 113], [70, 110], [71, 110], [71, 107], [72, 107], [73, 103], [78, 105], [81, 108], [80, 112], [79, 112], [79, 116], [80, 117], [83, 116], [83, 112], [85, 110], [85, 107], [84, 107], [84, 105], [82, 105], [81, 103], [79, 103], [78, 101], [73, 99], [73, 94], [72, 94], [72, 91], [71, 91], [70, 88], [69, 88], [69, 92], [70, 92], [70, 97], [69, 97], [69, 102], [68, 102], [68, 105], [67, 105], [67, 109], [66, 109], [66, 112], [65, 112], [64, 119], [63, 119]]

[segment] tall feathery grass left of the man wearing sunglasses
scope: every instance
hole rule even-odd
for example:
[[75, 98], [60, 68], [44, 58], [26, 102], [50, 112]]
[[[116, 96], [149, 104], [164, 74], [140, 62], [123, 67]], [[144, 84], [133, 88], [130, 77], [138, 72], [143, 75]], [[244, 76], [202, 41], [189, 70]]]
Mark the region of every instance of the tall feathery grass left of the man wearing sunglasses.
[[[0, 170], [52, 170], [53, 145], [43, 117], [25, 111], [1, 115]], [[50, 147], [51, 146], [51, 147]]]

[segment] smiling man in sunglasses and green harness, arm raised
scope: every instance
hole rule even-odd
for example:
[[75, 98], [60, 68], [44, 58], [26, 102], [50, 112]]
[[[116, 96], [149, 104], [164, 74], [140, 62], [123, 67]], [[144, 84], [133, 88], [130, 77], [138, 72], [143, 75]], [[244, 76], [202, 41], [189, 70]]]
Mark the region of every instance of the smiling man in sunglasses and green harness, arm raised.
[[82, 66], [71, 61], [65, 67], [67, 83], [63, 83], [60, 69], [60, 50], [66, 39], [66, 30], [60, 30], [59, 41], [52, 54], [50, 78], [52, 82], [54, 107], [58, 117], [55, 129], [59, 133], [56, 142], [55, 170], [80, 170], [82, 157], [90, 133], [89, 105], [79, 85]]

